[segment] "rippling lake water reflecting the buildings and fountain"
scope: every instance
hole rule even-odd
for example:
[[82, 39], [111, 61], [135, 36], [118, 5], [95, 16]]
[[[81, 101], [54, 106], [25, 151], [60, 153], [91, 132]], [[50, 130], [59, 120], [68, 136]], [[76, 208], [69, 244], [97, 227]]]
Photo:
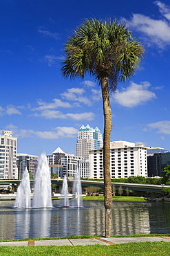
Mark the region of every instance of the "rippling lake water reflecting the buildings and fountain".
[[[83, 208], [17, 209], [14, 201], [0, 201], [0, 239], [105, 235], [103, 201], [83, 201]], [[170, 232], [170, 203], [114, 202], [111, 235]]]

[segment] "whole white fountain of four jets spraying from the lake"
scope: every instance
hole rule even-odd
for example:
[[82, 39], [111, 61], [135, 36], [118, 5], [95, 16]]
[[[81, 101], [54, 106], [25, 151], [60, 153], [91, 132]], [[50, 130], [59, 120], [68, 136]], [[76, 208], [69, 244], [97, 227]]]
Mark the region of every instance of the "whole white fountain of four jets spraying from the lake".
[[[75, 196], [75, 200], [72, 201], [72, 206], [80, 208], [82, 206], [82, 190], [80, 174], [78, 171], [74, 177], [72, 193]], [[69, 207], [70, 204], [68, 200], [68, 186], [66, 176], [63, 180], [63, 188], [61, 194], [63, 195], [64, 199], [63, 205], [65, 207]], [[19, 185], [17, 191], [17, 199], [15, 201], [14, 207], [30, 208], [30, 195], [30, 179], [28, 170], [25, 169], [23, 179], [21, 180], [21, 184]], [[35, 176], [32, 208], [52, 208], [50, 169], [45, 153], [42, 153], [39, 157], [39, 163]]]

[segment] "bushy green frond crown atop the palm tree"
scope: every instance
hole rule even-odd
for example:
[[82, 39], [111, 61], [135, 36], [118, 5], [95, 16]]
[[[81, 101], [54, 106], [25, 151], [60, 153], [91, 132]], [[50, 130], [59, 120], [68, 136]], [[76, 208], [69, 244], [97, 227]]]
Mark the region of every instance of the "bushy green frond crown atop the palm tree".
[[65, 45], [61, 72], [70, 78], [90, 73], [99, 83], [105, 76], [110, 91], [115, 91], [118, 80], [125, 81], [134, 74], [143, 54], [143, 46], [126, 24], [116, 19], [85, 19]]

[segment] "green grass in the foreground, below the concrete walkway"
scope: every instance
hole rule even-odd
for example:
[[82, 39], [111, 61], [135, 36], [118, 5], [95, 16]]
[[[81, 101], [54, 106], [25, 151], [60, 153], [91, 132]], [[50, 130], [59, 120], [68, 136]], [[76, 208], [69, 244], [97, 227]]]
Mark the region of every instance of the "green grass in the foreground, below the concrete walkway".
[[166, 256], [169, 255], [170, 243], [168, 242], [140, 242], [101, 246], [34, 246], [34, 247], [3, 247], [0, 248], [1, 256], [46, 256], [46, 255], [114, 255], [114, 256]]

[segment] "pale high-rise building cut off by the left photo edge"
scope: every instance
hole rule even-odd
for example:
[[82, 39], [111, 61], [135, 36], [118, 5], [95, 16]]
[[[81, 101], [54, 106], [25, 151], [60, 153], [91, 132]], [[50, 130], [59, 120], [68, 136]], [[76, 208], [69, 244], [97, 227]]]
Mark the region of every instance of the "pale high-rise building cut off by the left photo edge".
[[0, 135], [0, 179], [17, 179], [17, 137], [12, 131]]

